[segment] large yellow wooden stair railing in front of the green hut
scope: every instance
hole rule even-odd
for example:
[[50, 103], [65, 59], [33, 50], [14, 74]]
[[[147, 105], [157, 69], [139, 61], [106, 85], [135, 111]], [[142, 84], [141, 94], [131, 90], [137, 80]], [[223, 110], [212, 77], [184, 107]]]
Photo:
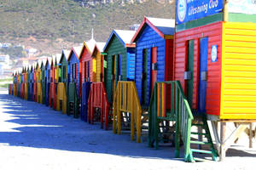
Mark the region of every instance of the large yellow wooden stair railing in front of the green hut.
[[113, 97], [113, 133], [121, 133], [121, 112], [131, 114], [131, 140], [134, 140], [136, 127], [137, 142], [140, 143], [143, 111], [138, 99], [135, 82], [120, 81], [117, 84]]

